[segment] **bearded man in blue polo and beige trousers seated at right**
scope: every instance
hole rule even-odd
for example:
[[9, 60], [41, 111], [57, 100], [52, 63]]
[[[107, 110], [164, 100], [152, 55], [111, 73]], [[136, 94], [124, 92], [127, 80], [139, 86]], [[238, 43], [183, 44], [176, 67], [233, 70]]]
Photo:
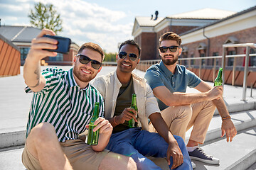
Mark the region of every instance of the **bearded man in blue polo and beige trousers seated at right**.
[[[231, 142], [237, 131], [222, 98], [222, 86], [210, 87], [186, 67], [178, 65], [181, 55], [181, 38], [173, 32], [164, 33], [159, 39], [161, 62], [147, 69], [145, 78], [154, 96], [158, 98], [161, 115], [174, 135], [185, 140], [186, 131], [193, 126], [187, 149], [191, 159], [208, 164], [219, 164], [219, 159], [212, 157], [198, 144], [203, 144], [206, 132], [213, 117], [215, 107], [223, 119], [222, 137], [226, 133], [227, 142]], [[201, 91], [198, 94], [186, 93], [187, 86]], [[150, 131], [155, 132], [150, 125]]]

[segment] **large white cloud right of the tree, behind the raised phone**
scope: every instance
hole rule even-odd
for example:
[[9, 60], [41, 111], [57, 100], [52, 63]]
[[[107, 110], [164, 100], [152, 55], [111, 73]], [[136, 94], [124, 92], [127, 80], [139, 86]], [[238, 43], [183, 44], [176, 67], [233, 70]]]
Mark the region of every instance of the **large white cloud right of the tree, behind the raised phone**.
[[78, 45], [95, 42], [107, 52], [117, 52], [118, 43], [132, 35], [133, 23], [119, 24], [120, 20], [127, 17], [123, 11], [111, 11], [81, 0], [43, 2], [52, 3], [57, 8], [63, 18], [61, 35], [70, 36]]

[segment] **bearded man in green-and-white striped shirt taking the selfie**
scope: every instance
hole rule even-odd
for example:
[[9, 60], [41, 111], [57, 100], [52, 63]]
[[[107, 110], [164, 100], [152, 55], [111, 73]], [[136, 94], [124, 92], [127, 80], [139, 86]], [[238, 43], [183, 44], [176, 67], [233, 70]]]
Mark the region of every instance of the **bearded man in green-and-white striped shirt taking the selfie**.
[[[55, 35], [43, 29], [32, 40], [23, 68], [26, 92], [33, 92], [22, 154], [26, 169], [137, 169], [132, 158], [105, 149], [112, 125], [102, 118], [102, 96], [89, 84], [100, 72], [102, 48], [87, 42], [78, 50], [70, 70], [41, 72], [41, 59], [57, 55], [48, 50], [56, 49], [58, 42], [43, 37], [46, 34]], [[100, 103], [100, 118], [95, 121], [100, 138], [98, 145], [90, 146], [79, 135], [88, 128], [95, 102]]]

